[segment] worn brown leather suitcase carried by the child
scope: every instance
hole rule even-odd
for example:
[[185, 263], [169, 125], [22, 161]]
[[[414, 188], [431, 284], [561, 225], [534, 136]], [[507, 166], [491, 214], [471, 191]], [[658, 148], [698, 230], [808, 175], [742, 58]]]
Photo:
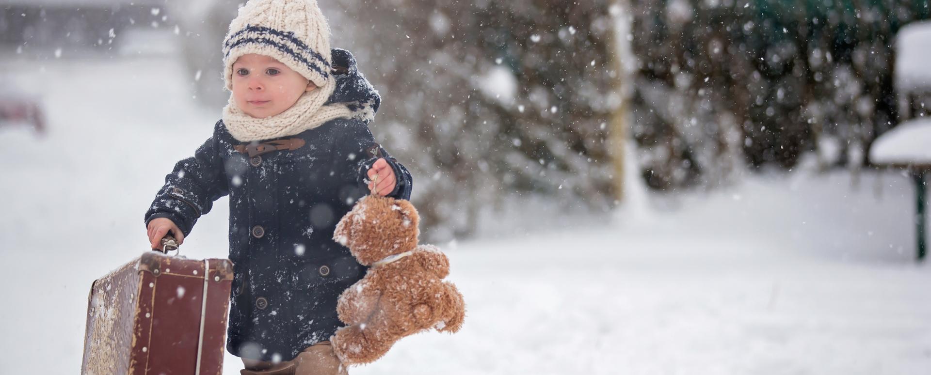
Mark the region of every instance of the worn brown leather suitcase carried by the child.
[[233, 265], [158, 251], [94, 281], [81, 373], [220, 375]]

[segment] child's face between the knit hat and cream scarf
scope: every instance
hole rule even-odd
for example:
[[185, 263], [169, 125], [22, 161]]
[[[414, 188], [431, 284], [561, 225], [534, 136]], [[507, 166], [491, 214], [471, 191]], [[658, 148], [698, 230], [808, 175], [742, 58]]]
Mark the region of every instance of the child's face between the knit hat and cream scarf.
[[317, 86], [285, 64], [250, 53], [233, 63], [233, 99], [242, 112], [255, 118], [285, 112], [304, 92]]

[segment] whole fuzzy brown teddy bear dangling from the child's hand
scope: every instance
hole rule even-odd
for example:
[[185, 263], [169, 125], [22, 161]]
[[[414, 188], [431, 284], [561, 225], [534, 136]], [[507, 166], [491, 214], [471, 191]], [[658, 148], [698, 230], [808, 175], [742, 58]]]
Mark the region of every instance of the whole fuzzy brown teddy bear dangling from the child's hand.
[[336, 306], [346, 327], [331, 343], [344, 365], [371, 363], [399, 339], [429, 328], [462, 328], [465, 301], [443, 280], [450, 261], [439, 248], [418, 245], [419, 221], [411, 202], [367, 195], [337, 223], [333, 239], [370, 266]]

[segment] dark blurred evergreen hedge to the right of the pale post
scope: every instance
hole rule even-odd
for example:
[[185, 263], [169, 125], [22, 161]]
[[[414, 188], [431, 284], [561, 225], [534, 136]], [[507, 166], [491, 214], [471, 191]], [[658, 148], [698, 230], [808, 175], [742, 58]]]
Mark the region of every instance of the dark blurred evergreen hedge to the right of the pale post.
[[745, 162], [791, 168], [806, 151], [868, 165], [871, 142], [897, 124], [895, 35], [929, 17], [926, 0], [633, 7], [635, 137], [660, 189], [717, 183]]

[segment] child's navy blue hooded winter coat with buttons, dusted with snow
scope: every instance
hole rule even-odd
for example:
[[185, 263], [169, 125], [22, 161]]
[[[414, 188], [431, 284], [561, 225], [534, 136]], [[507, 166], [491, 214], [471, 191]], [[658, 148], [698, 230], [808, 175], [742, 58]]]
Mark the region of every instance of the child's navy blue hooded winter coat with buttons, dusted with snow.
[[[342, 85], [331, 101], [374, 100], [377, 110], [377, 93], [357, 92], [371, 86], [359, 81], [364, 78], [351, 55], [348, 60], [340, 60], [353, 66], [337, 76]], [[336, 222], [368, 194], [365, 173], [378, 158], [371, 153], [380, 152], [398, 177], [390, 196], [410, 199], [412, 188], [407, 168], [377, 145], [362, 121], [335, 119], [285, 138], [305, 144], [250, 157], [236, 151], [245, 143], [218, 122], [195, 155], [175, 165], [145, 214], [146, 225], [169, 218], [187, 235], [213, 201], [229, 195], [235, 278], [227, 350], [264, 361], [290, 360], [343, 325], [336, 300], [366, 268], [332, 234]]]

